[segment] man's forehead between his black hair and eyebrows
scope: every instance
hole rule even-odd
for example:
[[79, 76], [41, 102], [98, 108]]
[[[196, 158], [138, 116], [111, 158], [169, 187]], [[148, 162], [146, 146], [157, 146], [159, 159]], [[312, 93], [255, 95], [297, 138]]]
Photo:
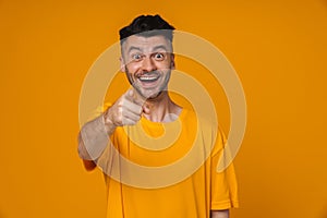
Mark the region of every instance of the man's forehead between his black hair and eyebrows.
[[150, 50], [158, 47], [171, 50], [171, 43], [162, 35], [156, 35], [156, 36], [132, 35], [129, 36], [125, 39], [125, 41], [122, 44], [123, 50], [126, 51], [129, 51], [131, 48]]

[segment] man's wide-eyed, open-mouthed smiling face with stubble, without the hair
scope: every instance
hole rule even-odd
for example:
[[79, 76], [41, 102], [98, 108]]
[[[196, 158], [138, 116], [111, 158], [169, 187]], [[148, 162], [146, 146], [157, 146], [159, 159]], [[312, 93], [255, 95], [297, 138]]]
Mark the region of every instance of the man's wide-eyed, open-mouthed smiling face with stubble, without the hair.
[[133, 87], [145, 98], [167, 89], [174, 68], [171, 43], [165, 36], [130, 36], [122, 45], [121, 68]]

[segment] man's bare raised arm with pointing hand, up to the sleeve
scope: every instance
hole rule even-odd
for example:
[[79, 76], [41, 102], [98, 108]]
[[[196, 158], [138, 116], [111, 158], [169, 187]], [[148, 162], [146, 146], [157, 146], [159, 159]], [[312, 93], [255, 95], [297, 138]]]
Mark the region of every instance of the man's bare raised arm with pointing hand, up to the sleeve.
[[117, 126], [133, 125], [141, 119], [143, 101], [134, 96], [132, 89], [128, 90], [101, 116], [83, 125], [78, 133], [78, 155], [86, 170], [96, 167], [94, 160], [102, 154]]

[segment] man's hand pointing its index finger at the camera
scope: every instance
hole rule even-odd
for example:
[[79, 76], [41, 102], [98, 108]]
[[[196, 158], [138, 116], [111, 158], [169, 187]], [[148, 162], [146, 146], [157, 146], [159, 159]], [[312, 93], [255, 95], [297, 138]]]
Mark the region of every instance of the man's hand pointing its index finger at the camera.
[[[143, 112], [148, 112], [146, 107], [143, 107], [145, 99], [140, 97], [133, 88], [123, 94], [112, 107], [104, 114], [106, 125], [134, 125], [141, 119]], [[109, 129], [109, 132], [110, 129]]]

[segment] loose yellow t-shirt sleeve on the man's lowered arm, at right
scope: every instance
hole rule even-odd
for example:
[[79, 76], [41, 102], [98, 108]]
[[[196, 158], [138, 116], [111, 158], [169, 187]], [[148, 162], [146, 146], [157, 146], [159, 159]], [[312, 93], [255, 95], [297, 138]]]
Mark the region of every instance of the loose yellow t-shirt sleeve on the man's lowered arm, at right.
[[[211, 154], [211, 210], [228, 209], [239, 207], [238, 183], [233, 164], [227, 166], [227, 140], [219, 129], [216, 145]], [[226, 164], [226, 169], [217, 172], [219, 161]]]

